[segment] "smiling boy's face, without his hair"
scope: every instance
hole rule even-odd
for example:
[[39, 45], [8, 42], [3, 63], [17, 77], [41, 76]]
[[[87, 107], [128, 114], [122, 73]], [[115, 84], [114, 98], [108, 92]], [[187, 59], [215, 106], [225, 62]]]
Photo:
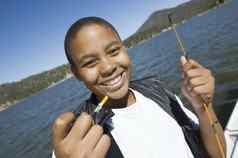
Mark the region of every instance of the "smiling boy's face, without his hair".
[[128, 93], [131, 61], [119, 37], [109, 27], [83, 27], [71, 42], [77, 78], [97, 96], [121, 99]]

